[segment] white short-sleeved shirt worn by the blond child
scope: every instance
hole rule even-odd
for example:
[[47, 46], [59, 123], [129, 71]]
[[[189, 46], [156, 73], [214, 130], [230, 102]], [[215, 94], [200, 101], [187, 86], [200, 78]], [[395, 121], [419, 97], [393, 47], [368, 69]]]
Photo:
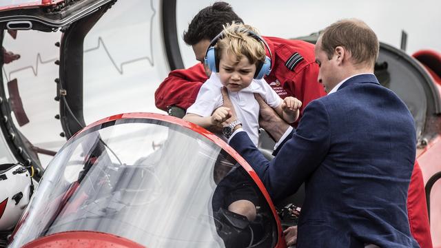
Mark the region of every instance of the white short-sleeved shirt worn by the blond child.
[[[223, 105], [222, 93], [220, 92], [222, 87], [219, 76], [212, 73], [209, 79], [203, 83], [196, 101], [187, 109], [187, 114], [192, 113], [203, 117], [211, 116], [216, 108]], [[283, 100], [280, 99], [280, 96], [269, 86], [265, 79], [253, 79], [248, 87], [238, 92], [228, 91], [229, 99], [231, 99], [234, 110], [236, 110], [238, 120], [242, 123], [243, 130], [247, 132], [249, 138], [257, 146], [260, 107], [254, 99], [254, 93], [260, 94], [270, 107], [278, 107]], [[219, 137], [226, 141], [224, 136], [220, 135]]]

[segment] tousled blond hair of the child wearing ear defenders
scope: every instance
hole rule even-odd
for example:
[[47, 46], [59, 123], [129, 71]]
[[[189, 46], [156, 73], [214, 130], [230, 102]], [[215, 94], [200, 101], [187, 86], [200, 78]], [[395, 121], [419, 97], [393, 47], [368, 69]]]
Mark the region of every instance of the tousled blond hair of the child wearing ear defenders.
[[[223, 37], [216, 43], [216, 52], [220, 55], [224, 50], [236, 56], [236, 62], [245, 56], [249, 63], [258, 64], [265, 61], [265, 45], [255, 37], [258, 32], [250, 25], [231, 23], [223, 25]], [[218, 57], [220, 59], [220, 57]]]

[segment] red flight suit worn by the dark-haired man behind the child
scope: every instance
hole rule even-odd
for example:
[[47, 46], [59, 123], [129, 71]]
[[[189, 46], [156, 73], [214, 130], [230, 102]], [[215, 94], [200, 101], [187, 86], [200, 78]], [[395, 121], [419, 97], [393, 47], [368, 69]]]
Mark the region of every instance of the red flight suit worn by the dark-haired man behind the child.
[[[315, 63], [314, 45], [305, 41], [276, 37], [263, 37], [263, 39], [267, 41], [272, 53], [271, 73], [265, 76], [265, 80], [282, 99], [285, 96], [294, 96], [302, 101], [301, 117], [310, 101], [326, 95], [322, 85], [317, 82], [318, 65]], [[168, 107], [176, 105], [187, 110], [196, 101], [199, 89], [207, 79], [202, 63], [188, 69], [170, 72], [154, 94], [156, 107], [167, 111]], [[420, 246], [431, 248], [424, 196], [421, 169], [416, 163], [407, 201], [409, 223], [411, 234]]]

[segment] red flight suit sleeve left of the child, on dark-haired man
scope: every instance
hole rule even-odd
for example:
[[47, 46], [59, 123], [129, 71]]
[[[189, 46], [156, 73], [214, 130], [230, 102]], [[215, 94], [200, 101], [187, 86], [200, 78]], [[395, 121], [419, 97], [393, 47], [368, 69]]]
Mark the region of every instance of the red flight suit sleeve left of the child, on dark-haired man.
[[167, 111], [167, 107], [176, 105], [187, 110], [196, 101], [199, 89], [207, 79], [201, 63], [170, 72], [154, 93], [156, 107]]

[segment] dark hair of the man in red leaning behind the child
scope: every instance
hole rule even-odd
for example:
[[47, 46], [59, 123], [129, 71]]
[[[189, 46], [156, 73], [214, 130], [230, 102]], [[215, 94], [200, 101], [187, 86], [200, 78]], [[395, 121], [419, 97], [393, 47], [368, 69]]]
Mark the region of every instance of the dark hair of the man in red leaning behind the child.
[[187, 45], [194, 45], [203, 39], [211, 41], [222, 32], [223, 25], [231, 24], [233, 21], [243, 23], [229, 3], [222, 1], [213, 3], [193, 17], [187, 31], [184, 31], [183, 39]]

